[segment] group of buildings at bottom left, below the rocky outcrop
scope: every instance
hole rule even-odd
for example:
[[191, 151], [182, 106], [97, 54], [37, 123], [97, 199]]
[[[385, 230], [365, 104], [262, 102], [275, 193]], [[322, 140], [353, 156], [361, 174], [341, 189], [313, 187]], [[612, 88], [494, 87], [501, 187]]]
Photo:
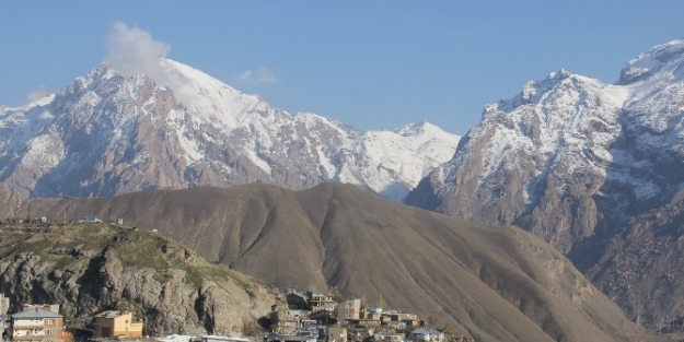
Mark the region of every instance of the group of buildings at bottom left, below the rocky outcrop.
[[[69, 342], [73, 335], [65, 329], [65, 319], [59, 315], [59, 304], [31, 305], [7, 315], [9, 298], [0, 296], [0, 310], [4, 320], [3, 341], [20, 342]], [[93, 339], [139, 339], [142, 337], [142, 321], [134, 320], [132, 312], [106, 310], [93, 316]]]

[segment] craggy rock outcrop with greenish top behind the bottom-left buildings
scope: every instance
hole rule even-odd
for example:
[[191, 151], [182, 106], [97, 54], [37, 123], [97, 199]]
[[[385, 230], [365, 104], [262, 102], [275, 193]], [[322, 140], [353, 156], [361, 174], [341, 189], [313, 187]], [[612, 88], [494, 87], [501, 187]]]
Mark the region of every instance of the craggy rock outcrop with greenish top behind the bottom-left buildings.
[[257, 327], [278, 294], [149, 232], [106, 224], [2, 226], [0, 287], [19, 309], [57, 303], [69, 328], [131, 310], [143, 333], [229, 333]]

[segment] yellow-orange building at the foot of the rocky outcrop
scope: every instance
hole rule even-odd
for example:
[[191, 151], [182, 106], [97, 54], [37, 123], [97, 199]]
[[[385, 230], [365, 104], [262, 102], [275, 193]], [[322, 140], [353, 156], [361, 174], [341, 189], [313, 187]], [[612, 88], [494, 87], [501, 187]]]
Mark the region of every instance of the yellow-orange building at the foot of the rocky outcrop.
[[136, 339], [142, 337], [142, 321], [134, 321], [131, 311], [107, 310], [93, 316], [93, 338]]

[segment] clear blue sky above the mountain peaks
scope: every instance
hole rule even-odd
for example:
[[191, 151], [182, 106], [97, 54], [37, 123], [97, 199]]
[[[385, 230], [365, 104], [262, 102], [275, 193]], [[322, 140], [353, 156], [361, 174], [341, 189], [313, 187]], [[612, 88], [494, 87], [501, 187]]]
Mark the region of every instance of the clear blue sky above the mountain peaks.
[[0, 104], [85, 75], [115, 23], [289, 111], [465, 133], [488, 103], [566, 69], [615, 82], [684, 37], [684, 1], [0, 1]]

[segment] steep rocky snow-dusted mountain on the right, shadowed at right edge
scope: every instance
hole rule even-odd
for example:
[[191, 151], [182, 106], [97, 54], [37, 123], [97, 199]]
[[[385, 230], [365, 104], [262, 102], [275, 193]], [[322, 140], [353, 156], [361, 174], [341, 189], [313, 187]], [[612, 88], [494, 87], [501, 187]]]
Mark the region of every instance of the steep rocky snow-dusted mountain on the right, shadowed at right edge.
[[454, 157], [405, 202], [543, 237], [634, 319], [684, 317], [684, 40], [616, 84], [552, 73], [488, 105]]

